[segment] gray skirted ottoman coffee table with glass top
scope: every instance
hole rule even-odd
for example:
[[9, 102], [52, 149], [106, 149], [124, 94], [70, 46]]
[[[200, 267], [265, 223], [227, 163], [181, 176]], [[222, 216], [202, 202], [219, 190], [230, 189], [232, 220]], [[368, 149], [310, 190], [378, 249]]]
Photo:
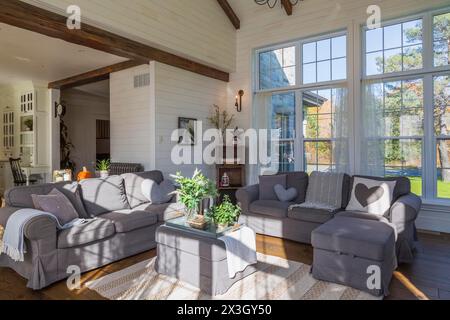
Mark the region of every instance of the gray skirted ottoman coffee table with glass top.
[[211, 296], [226, 293], [257, 270], [251, 265], [234, 278], [229, 277], [225, 243], [219, 240], [223, 235], [214, 228], [203, 231], [189, 227], [184, 217], [167, 221], [156, 231], [156, 272], [187, 282]]

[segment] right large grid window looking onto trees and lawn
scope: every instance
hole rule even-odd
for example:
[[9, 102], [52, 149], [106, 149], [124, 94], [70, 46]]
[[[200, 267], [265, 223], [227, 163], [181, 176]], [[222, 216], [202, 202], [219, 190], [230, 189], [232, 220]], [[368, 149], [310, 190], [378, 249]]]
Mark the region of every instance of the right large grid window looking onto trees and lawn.
[[450, 199], [450, 14], [387, 23], [364, 36], [363, 169], [408, 177], [414, 193]]

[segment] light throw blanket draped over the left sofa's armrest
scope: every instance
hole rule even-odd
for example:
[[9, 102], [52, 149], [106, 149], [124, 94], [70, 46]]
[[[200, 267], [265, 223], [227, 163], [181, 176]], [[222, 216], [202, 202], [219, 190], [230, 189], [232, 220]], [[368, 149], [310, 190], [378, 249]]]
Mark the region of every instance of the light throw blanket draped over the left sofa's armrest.
[[24, 241], [25, 226], [33, 218], [40, 216], [47, 216], [54, 219], [57, 228], [60, 230], [69, 229], [86, 221], [84, 219], [75, 219], [64, 226], [61, 226], [58, 219], [51, 213], [35, 209], [20, 209], [13, 213], [6, 223], [3, 239], [0, 239], [0, 254], [5, 253], [16, 262], [24, 261], [24, 255], [26, 253]]

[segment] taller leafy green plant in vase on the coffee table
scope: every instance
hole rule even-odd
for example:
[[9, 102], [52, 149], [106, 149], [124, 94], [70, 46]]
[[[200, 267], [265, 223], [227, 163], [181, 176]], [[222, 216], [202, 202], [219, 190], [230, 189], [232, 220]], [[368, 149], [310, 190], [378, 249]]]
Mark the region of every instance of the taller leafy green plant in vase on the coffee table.
[[178, 185], [179, 201], [186, 208], [186, 219], [198, 220], [201, 212], [202, 202], [204, 199], [217, 196], [217, 189], [213, 181], [206, 178], [201, 171], [195, 170], [192, 178], [187, 178], [177, 172], [172, 178]]

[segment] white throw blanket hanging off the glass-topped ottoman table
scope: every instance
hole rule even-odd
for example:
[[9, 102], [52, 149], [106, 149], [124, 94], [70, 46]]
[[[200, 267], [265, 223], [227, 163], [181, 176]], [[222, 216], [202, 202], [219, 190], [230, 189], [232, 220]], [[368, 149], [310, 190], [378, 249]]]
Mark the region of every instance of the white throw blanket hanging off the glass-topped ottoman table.
[[228, 274], [233, 279], [237, 273], [258, 262], [256, 257], [256, 235], [248, 228], [228, 233], [219, 238], [227, 249]]

